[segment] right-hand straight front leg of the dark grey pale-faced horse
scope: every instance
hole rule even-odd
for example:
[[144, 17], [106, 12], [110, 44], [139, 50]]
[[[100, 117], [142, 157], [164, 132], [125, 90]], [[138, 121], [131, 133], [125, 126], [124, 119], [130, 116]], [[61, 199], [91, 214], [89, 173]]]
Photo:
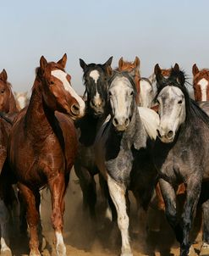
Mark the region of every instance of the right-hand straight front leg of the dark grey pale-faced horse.
[[196, 206], [201, 194], [201, 180], [198, 175], [190, 175], [186, 187], [186, 200], [182, 214], [183, 240], [180, 244], [180, 256], [188, 255], [190, 251], [190, 229], [195, 217]]

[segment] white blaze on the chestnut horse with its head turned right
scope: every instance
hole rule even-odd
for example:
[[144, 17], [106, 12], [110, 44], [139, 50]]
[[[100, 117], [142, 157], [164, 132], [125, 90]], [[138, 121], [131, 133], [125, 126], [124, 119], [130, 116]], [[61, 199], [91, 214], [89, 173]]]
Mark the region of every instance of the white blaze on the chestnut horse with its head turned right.
[[63, 72], [63, 70], [52, 70], [51, 75], [57, 77], [60, 81], [63, 82], [63, 87], [65, 91], [69, 92], [69, 94], [74, 97], [77, 102], [80, 105], [80, 114], [84, 114], [85, 111], [85, 102], [82, 100], [82, 98], [74, 92], [74, 89], [72, 86], [70, 86], [69, 81], [67, 79], [67, 74]]

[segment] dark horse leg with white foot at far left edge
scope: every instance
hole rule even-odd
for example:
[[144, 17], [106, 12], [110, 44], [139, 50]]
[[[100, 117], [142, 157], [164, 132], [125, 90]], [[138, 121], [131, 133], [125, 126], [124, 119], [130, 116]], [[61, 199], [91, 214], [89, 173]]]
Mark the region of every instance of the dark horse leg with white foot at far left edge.
[[0, 200], [0, 222], [1, 222], [1, 253], [6, 253], [11, 254], [12, 252], [10, 248], [8, 247], [8, 219], [9, 219], [9, 214], [8, 214], [8, 209], [3, 202], [3, 200]]

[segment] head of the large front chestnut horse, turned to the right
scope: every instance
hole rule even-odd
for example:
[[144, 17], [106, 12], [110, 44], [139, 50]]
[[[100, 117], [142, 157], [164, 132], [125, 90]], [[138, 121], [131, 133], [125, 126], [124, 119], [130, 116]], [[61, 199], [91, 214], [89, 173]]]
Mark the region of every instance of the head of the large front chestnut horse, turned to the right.
[[57, 63], [47, 62], [47, 59], [41, 56], [36, 78], [37, 82], [42, 84], [42, 97], [47, 107], [77, 119], [85, 114], [85, 103], [71, 86], [71, 76], [64, 70], [66, 62], [66, 54]]

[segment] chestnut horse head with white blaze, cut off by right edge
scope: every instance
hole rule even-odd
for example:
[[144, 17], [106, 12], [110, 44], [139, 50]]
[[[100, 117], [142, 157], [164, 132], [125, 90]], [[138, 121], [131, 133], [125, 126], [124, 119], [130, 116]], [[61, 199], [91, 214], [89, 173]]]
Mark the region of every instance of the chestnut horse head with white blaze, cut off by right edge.
[[195, 94], [195, 101], [203, 102], [209, 100], [209, 70], [199, 70], [197, 65], [192, 67], [193, 74], [193, 88]]

